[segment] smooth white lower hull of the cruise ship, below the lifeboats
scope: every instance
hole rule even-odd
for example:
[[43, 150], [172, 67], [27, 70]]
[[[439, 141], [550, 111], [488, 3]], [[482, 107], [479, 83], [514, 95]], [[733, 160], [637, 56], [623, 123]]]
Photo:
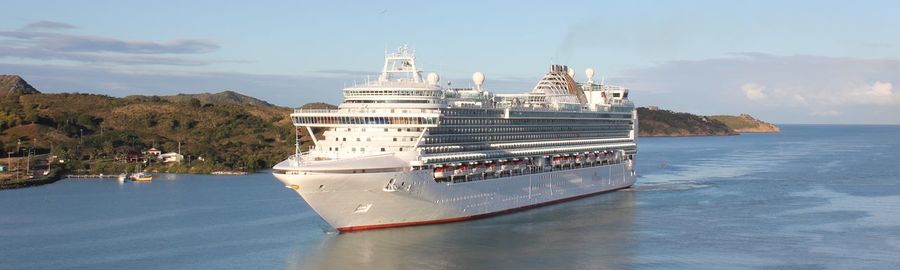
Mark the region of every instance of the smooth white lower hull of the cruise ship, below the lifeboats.
[[342, 232], [482, 218], [627, 188], [635, 181], [633, 160], [462, 183], [436, 182], [431, 170], [293, 171], [275, 177]]

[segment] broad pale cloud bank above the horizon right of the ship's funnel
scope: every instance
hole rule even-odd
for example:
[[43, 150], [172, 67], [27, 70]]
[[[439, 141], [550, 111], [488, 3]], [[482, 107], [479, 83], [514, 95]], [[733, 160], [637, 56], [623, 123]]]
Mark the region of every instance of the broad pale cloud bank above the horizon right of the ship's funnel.
[[745, 52], [631, 69], [610, 81], [627, 82], [641, 105], [783, 122], [900, 124], [900, 93], [893, 89], [900, 59]]

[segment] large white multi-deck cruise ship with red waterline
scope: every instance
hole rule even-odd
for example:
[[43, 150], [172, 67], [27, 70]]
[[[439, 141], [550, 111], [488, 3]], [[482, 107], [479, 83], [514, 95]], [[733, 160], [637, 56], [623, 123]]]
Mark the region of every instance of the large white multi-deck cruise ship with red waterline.
[[[628, 89], [551, 65], [531, 91], [443, 87], [413, 50], [336, 109], [295, 109], [295, 154], [274, 167], [341, 232], [464, 221], [628, 188], [637, 112]], [[312, 140], [301, 149], [300, 138]], [[320, 135], [316, 135], [320, 134]]]

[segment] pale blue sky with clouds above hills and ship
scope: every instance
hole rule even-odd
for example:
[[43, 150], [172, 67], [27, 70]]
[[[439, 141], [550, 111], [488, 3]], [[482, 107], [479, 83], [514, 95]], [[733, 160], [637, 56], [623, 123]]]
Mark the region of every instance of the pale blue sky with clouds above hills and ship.
[[[286, 3], [287, 2], [287, 3]], [[0, 74], [43, 92], [233, 90], [339, 103], [408, 44], [426, 72], [530, 91], [593, 68], [639, 106], [900, 124], [897, 1], [4, 1]]]

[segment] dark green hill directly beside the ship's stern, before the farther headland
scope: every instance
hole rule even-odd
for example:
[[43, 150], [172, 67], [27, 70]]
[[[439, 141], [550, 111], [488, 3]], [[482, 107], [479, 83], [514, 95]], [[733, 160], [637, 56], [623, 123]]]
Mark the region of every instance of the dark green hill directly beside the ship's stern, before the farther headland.
[[640, 107], [639, 136], [722, 136], [737, 133], [724, 123], [706, 116]]

